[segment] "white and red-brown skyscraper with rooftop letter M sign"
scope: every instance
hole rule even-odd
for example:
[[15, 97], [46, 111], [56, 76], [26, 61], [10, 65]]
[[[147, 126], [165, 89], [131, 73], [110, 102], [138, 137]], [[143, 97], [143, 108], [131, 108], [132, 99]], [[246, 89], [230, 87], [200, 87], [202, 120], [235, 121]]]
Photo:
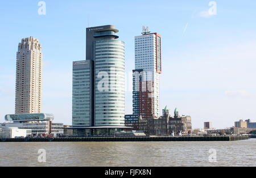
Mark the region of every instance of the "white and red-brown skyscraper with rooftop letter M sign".
[[[144, 32], [135, 37], [133, 113], [160, 117], [159, 74], [162, 73], [161, 36]], [[136, 86], [137, 85], [137, 86]]]

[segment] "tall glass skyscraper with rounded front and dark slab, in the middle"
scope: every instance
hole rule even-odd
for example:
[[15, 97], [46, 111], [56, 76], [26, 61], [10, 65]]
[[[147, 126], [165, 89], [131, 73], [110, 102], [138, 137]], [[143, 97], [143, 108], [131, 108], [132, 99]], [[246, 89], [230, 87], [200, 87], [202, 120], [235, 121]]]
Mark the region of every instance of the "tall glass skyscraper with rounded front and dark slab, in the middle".
[[73, 128], [125, 126], [125, 43], [117, 32], [86, 28], [86, 60], [73, 62]]

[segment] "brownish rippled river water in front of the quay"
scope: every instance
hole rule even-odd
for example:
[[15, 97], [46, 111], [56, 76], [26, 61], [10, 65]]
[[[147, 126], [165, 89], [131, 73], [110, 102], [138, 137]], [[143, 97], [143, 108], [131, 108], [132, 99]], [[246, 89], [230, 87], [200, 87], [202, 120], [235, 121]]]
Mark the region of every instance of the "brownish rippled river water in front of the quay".
[[[46, 163], [38, 161], [40, 149], [46, 150]], [[209, 153], [211, 149], [216, 150], [216, 154]], [[209, 162], [209, 156], [216, 158], [216, 162]], [[0, 142], [0, 166], [256, 166], [256, 139], [234, 142]]]

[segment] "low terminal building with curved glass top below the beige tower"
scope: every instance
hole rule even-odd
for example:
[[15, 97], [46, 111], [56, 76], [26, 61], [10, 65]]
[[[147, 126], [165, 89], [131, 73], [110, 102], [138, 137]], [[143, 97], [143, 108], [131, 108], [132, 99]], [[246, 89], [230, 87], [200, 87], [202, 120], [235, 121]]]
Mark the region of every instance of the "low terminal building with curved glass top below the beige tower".
[[63, 124], [53, 123], [52, 114], [18, 114], [6, 115], [6, 123], [0, 124], [1, 128], [31, 129], [32, 137], [57, 137], [62, 135]]

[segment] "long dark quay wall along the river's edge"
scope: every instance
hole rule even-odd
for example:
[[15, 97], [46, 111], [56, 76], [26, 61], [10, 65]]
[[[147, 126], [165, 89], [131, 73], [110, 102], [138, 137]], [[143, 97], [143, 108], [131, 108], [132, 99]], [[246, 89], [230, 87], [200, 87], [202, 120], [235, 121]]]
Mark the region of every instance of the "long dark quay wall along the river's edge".
[[242, 136], [213, 137], [71, 137], [71, 138], [2, 138], [0, 142], [203, 142], [203, 141], [240, 141], [249, 139]]

